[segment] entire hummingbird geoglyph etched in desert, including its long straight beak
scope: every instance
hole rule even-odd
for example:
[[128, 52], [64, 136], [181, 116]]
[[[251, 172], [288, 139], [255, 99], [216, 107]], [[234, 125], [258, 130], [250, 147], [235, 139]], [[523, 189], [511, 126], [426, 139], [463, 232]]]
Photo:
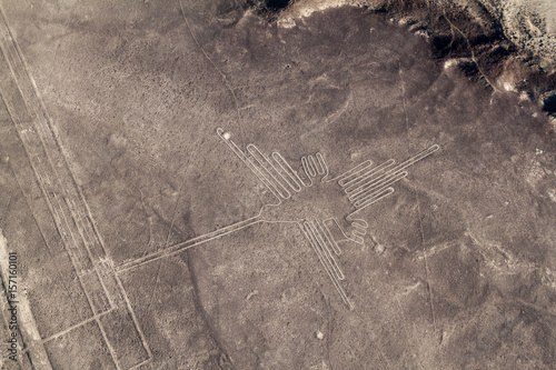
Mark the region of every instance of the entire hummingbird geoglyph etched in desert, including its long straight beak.
[[[439, 146], [434, 144], [397, 166], [394, 159], [378, 166], [373, 166], [373, 161], [366, 160], [331, 178], [325, 157], [320, 152], [301, 157], [300, 168], [295, 170], [279, 152], [271, 152], [268, 157], [252, 143], [247, 144], [244, 151], [231, 140], [229, 132], [225, 132], [221, 128], [216, 132], [274, 196], [276, 202], [262, 204], [255, 217], [126, 261], [120, 263], [117, 270], [129, 270], [173, 256], [259, 222], [294, 223], [308, 240], [342, 302], [353, 310], [354, 304], [340, 284], [346, 277], [338, 262], [338, 257], [341, 254], [339, 244], [344, 242], [363, 244], [368, 223], [360, 217], [360, 212], [394, 193], [393, 186], [407, 177], [406, 169], [437, 151]], [[326, 199], [325, 203], [319, 201], [322, 199]], [[330, 207], [322, 207], [328, 203]], [[329, 214], [345, 207], [350, 208], [346, 216]]]

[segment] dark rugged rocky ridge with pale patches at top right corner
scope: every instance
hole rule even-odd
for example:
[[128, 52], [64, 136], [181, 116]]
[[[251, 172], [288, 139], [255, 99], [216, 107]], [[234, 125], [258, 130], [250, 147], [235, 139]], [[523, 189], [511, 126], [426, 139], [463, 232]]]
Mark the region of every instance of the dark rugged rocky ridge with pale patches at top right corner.
[[[275, 3], [280, 3], [277, 7]], [[509, 2], [509, 1], [508, 1]], [[287, 7], [285, 6], [286, 3]], [[329, 3], [329, 4], [328, 4]], [[515, 33], [527, 33], [524, 26], [518, 30], [504, 27], [505, 13], [497, 11], [500, 1], [489, 0], [395, 0], [395, 1], [266, 1], [249, 0], [245, 9], [255, 9], [269, 21], [284, 18], [302, 17], [311, 8], [322, 9], [340, 4], [363, 7], [369, 12], [379, 13], [385, 19], [404, 24], [411, 32], [429, 39], [430, 49], [439, 62], [450, 61], [466, 77], [488, 87], [493, 91], [510, 90], [523, 93], [523, 97], [536, 101], [550, 117], [552, 123], [547, 130], [554, 132], [556, 120], [556, 63], [546, 51], [546, 43], [553, 41], [549, 33], [532, 39], [536, 47], [530, 47], [530, 40]], [[300, 10], [298, 10], [300, 9]], [[507, 12], [506, 12], [507, 13]], [[530, 24], [543, 23], [536, 13], [527, 13]], [[519, 12], [516, 18], [524, 18]], [[548, 17], [544, 14], [544, 17]], [[542, 18], [542, 17], [540, 17]], [[516, 20], [522, 22], [522, 19]], [[533, 26], [532, 26], [533, 27]], [[546, 24], [545, 24], [546, 28]], [[519, 39], [522, 37], [522, 39]], [[529, 38], [528, 33], [527, 37]], [[519, 44], [520, 43], [520, 44]], [[544, 48], [544, 49], [543, 49]], [[554, 53], [555, 51], [553, 51]], [[548, 53], [548, 54], [547, 54]]]

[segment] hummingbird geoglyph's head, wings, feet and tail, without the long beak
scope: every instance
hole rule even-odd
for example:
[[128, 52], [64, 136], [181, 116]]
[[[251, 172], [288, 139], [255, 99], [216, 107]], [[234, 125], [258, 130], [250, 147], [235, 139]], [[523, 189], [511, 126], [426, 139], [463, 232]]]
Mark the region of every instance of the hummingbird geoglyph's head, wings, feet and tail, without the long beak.
[[[320, 152], [315, 153], [315, 156], [301, 157], [301, 169], [296, 171], [279, 152], [275, 151], [268, 157], [252, 143], [246, 147], [245, 152], [231, 140], [231, 136], [222, 129], [217, 129], [217, 134], [277, 200], [276, 203], [264, 204], [256, 218], [262, 222], [297, 223], [315, 250], [341, 300], [349, 309], [354, 309], [354, 306], [340, 284], [340, 281], [345, 279], [345, 274], [337, 261], [337, 257], [341, 254], [338, 243], [351, 241], [363, 244], [368, 223], [359, 217], [359, 213], [394, 193], [395, 189], [391, 186], [407, 177], [406, 169], [409, 166], [439, 149], [439, 146], [434, 144], [397, 166], [395, 166], [394, 159], [376, 167], [373, 167], [373, 161], [366, 160], [336, 178], [329, 178], [328, 166]], [[282, 204], [296, 204], [296, 200], [298, 200], [296, 198], [305, 194], [312, 187], [328, 186], [334, 182], [339, 186], [354, 208], [340, 220], [334, 217], [310, 214], [318, 212], [318, 210], [310, 207], [308, 207], [310, 209], [308, 211], [309, 216], [307, 216], [302, 208], [304, 206], [310, 206], [310, 202], [307, 201], [300, 202], [304, 206], [294, 211], [276, 211]], [[328, 197], [327, 199], [334, 198], [337, 197]], [[285, 213], [286, 217], [284, 217]], [[284, 218], [280, 219], [279, 216]], [[350, 230], [347, 231], [347, 228]]]

